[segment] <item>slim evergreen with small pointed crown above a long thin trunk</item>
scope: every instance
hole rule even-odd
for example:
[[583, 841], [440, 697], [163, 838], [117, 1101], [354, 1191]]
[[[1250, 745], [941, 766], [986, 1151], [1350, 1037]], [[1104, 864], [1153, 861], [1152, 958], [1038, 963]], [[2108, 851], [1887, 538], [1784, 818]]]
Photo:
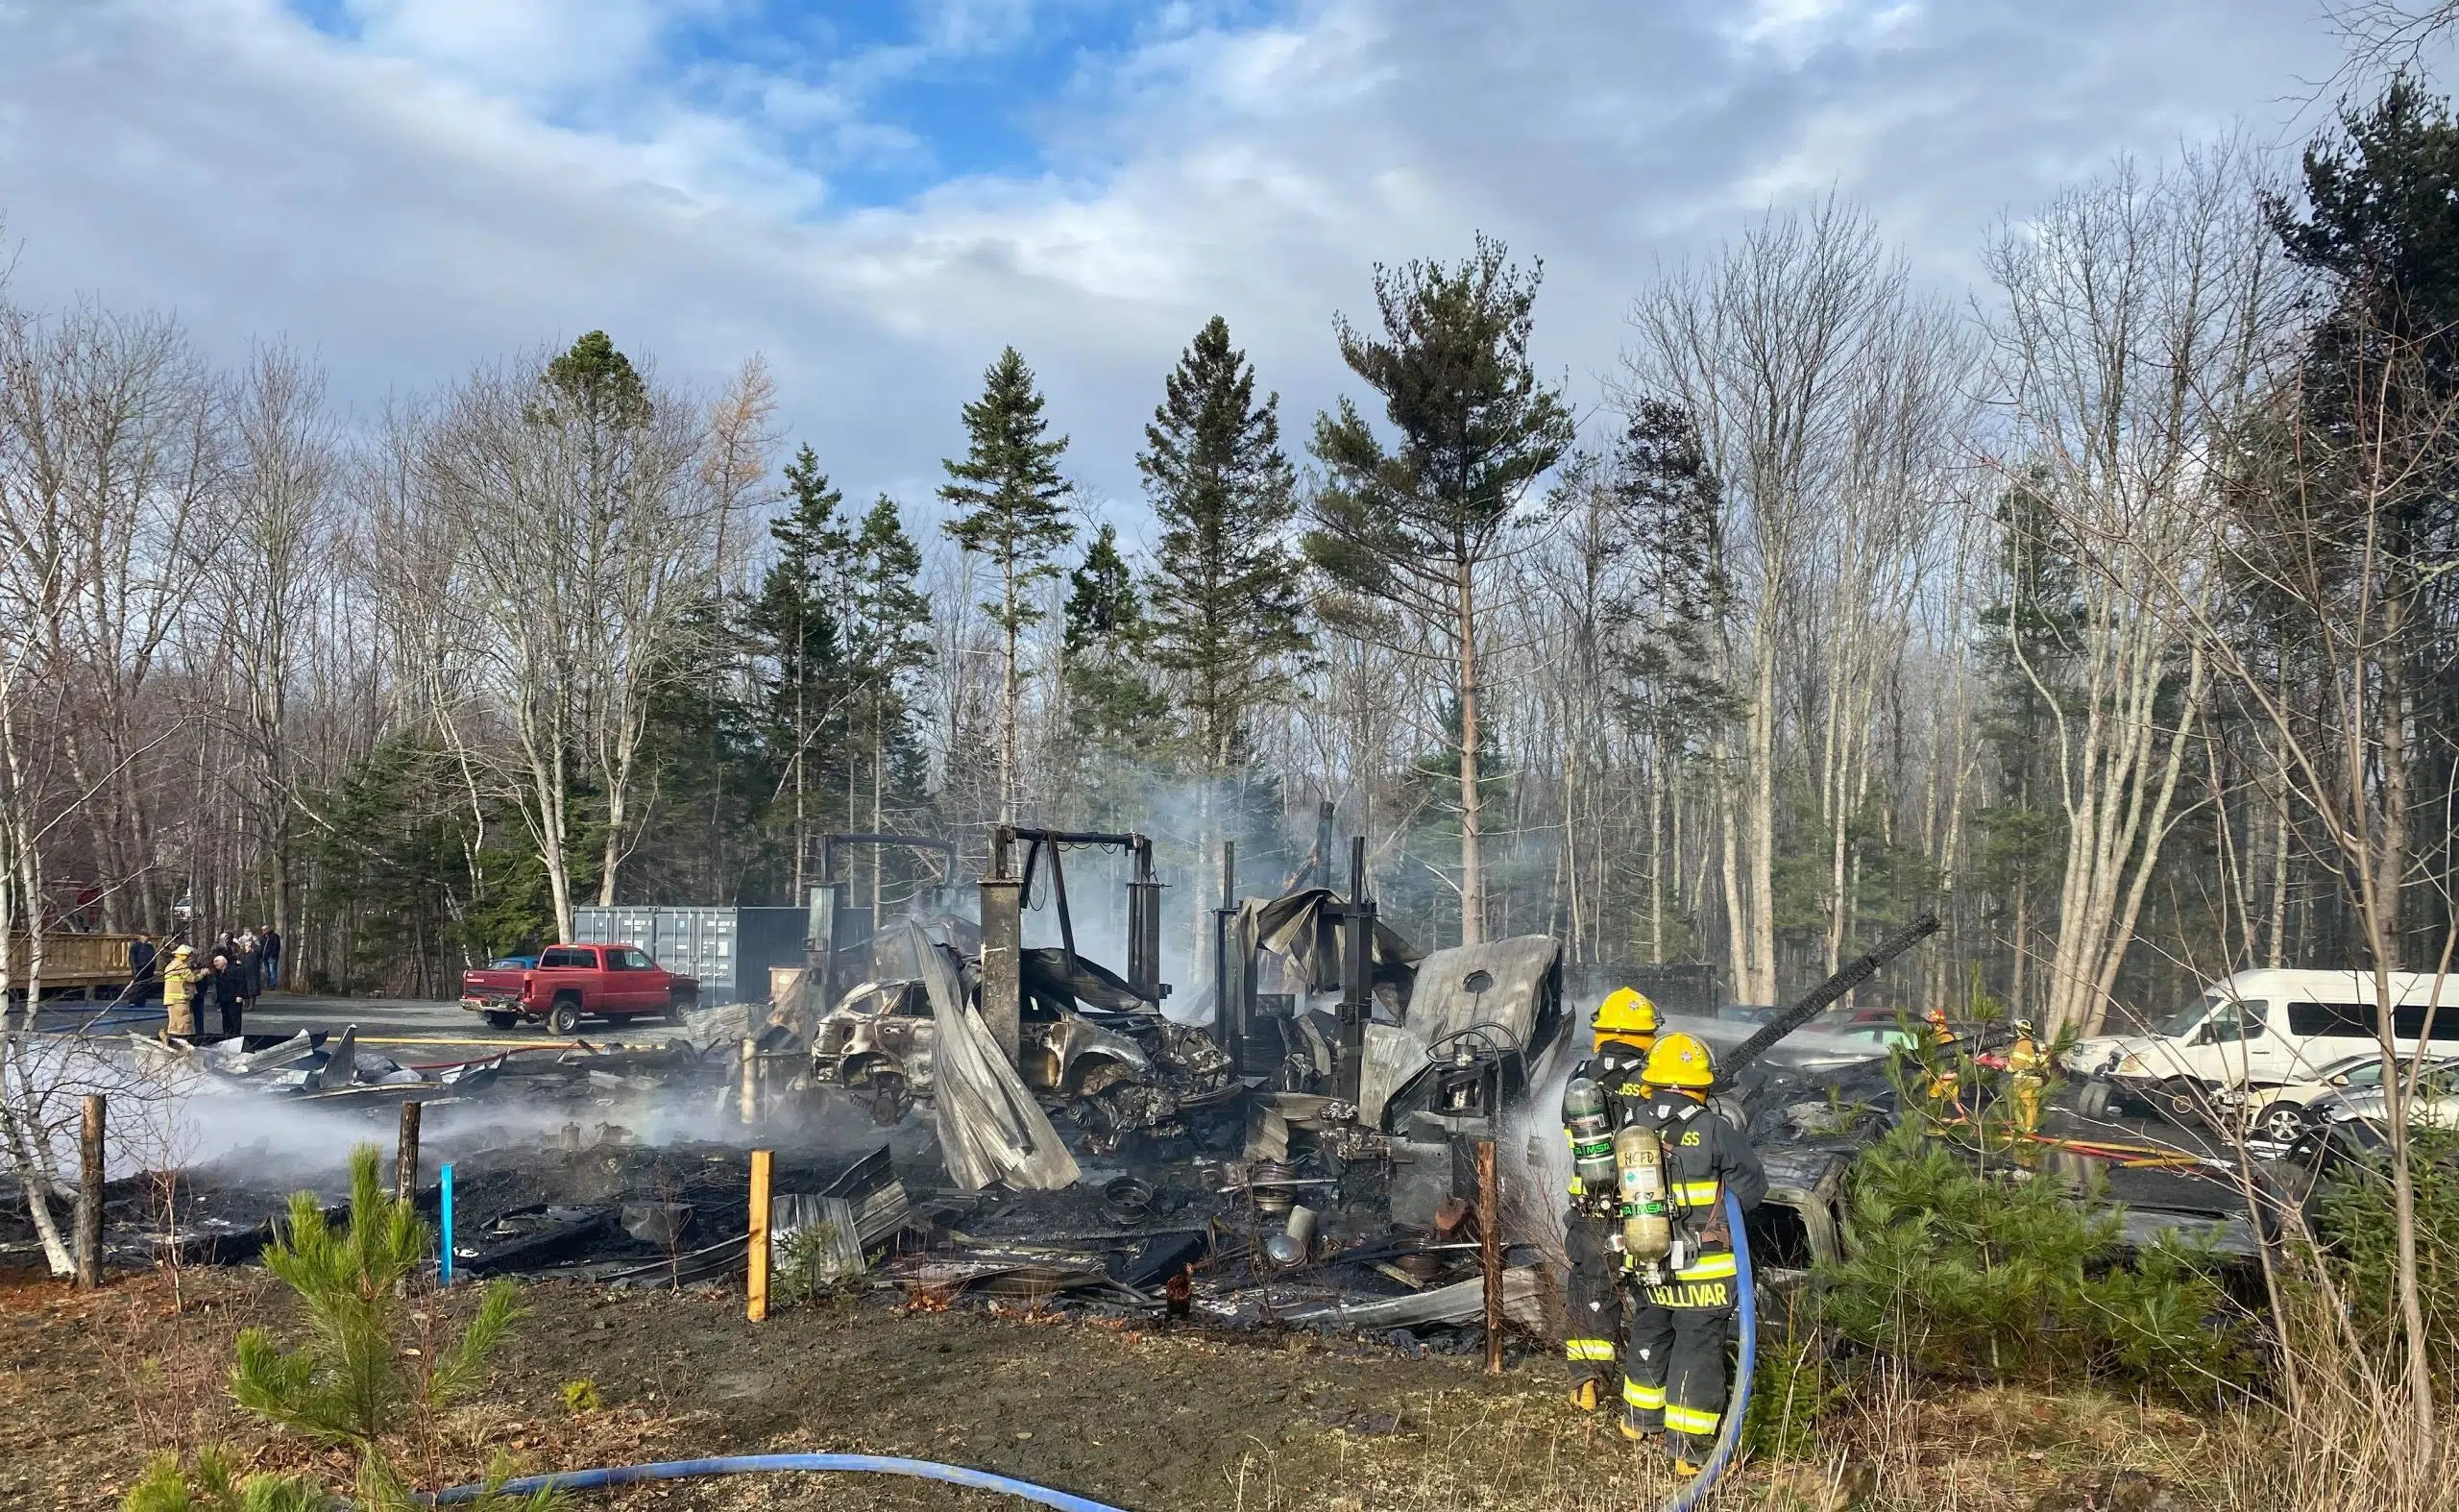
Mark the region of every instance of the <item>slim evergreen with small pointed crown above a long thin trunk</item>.
[[1070, 484], [1060, 477], [1067, 438], [1048, 440], [1043, 396], [1033, 369], [1008, 347], [981, 376], [981, 398], [964, 406], [966, 457], [942, 460], [949, 482], [939, 497], [961, 509], [947, 521], [957, 546], [984, 556], [998, 568], [998, 600], [981, 605], [1001, 632], [998, 681], [998, 821], [1016, 821], [1016, 639], [1040, 622], [1033, 602], [1035, 583], [1057, 578], [1052, 553], [1075, 538], [1062, 502]]

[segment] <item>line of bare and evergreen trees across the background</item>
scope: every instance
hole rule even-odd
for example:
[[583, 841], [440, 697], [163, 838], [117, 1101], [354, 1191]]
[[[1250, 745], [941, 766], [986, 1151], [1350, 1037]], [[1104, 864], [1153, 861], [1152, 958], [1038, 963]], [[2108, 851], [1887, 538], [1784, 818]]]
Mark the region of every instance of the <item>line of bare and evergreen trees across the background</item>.
[[344, 415], [285, 344], [0, 288], [0, 922], [189, 900], [293, 978], [440, 993], [580, 905], [799, 900], [826, 831], [952, 838], [966, 883], [1008, 819], [1153, 833], [1185, 942], [1225, 838], [1276, 892], [1333, 804], [1421, 944], [1557, 932], [1746, 1003], [1920, 907], [1893, 991], [2058, 1025], [2432, 969], [2447, 106], [2395, 84], [2294, 170], [2115, 165], [1979, 266], [1775, 209], [1574, 393], [1542, 266], [1478, 238], [1375, 270], [1306, 418], [1215, 317], [1156, 374], [1143, 548], [1016, 349], [934, 497], [848, 499], [760, 359], [588, 332]]

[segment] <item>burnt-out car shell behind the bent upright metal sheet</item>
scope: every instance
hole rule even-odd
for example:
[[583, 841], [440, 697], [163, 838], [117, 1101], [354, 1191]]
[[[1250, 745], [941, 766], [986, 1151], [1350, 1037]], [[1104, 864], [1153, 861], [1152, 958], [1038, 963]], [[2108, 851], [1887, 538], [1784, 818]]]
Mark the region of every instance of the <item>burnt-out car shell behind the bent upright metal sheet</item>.
[[[937, 1089], [939, 1025], [920, 951], [939, 954], [964, 1001], [979, 998], [979, 959], [947, 924], [880, 929], [870, 978], [824, 1013], [811, 1035], [811, 1084], [868, 1094], [873, 1116], [898, 1121]], [[1018, 1072], [1045, 1106], [1077, 1121], [1094, 1148], [1136, 1131], [1178, 1133], [1180, 1114], [1234, 1099], [1242, 1084], [1212, 1038], [1163, 1018], [1109, 969], [1065, 949], [1020, 951]]]

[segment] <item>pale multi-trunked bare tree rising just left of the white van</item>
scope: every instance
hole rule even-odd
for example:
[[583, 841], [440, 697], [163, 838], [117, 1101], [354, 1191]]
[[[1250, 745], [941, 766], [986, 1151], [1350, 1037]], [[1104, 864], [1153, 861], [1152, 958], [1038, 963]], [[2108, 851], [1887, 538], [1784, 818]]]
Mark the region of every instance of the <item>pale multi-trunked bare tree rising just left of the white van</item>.
[[2098, 1033], [2208, 676], [2154, 595], [2208, 593], [2203, 502], [2267, 376], [2279, 263], [2233, 145], [2149, 179], [2120, 165], [2002, 229], [1987, 263], [2011, 529], [2090, 568], [2046, 637], [2009, 639], [2051, 711], [2066, 811], [2046, 1018]]

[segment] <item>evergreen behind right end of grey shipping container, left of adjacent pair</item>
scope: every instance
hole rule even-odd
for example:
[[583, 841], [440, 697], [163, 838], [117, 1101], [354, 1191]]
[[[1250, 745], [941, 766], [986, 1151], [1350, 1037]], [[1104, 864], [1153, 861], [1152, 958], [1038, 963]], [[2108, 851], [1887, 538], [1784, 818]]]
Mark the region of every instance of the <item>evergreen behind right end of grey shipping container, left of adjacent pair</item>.
[[839, 519], [843, 494], [829, 487], [811, 447], [794, 452], [784, 470], [787, 511], [770, 526], [777, 561], [760, 580], [750, 629], [775, 666], [770, 728], [782, 750], [782, 792], [789, 804], [794, 897], [804, 895], [811, 856], [809, 836], [829, 792], [824, 750], [843, 733], [846, 647], [843, 615], [853, 536]]

